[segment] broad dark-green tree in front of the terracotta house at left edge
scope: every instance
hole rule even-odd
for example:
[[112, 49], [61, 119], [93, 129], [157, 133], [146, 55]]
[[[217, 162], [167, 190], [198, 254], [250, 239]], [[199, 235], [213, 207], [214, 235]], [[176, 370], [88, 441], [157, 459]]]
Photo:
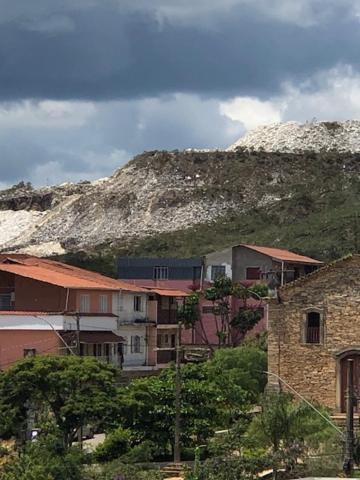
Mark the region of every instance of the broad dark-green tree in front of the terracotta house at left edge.
[[95, 358], [39, 356], [0, 375], [0, 434], [26, 429], [29, 408], [49, 412], [71, 446], [86, 424], [106, 425], [117, 411], [115, 370]]

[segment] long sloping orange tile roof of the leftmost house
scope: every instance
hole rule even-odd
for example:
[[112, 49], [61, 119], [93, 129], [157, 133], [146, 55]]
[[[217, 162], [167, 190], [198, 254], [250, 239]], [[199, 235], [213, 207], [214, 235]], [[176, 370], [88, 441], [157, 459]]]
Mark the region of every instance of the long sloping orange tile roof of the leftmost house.
[[63, 288], [147, 292], [144, 288], [105, 277], [100, 273], [30, 255], [1, 254], [0, 271], [32, 278], [33, 280]]

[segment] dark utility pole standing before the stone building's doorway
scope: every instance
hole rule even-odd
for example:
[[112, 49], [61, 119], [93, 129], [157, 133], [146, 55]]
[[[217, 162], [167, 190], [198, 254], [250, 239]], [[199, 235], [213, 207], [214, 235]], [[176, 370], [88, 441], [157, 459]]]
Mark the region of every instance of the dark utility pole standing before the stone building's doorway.
[[345, 458], [343, 470], [347, 477], [352, 477], [354, 470], [354, 360], [347, 360], [347, 391], [346, 391], [346, 434]]

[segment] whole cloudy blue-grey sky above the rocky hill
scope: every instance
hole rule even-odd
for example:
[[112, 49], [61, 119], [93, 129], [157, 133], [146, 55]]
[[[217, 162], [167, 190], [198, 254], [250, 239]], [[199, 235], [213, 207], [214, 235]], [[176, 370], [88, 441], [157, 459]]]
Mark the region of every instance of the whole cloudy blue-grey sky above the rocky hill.
[[360, 0], [0, 0], [0, 186], [360, 118]]

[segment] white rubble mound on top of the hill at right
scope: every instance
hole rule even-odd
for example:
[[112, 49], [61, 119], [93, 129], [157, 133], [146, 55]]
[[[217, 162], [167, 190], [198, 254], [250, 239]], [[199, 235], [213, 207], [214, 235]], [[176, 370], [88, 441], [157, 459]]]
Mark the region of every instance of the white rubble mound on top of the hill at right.
[[360, 152], [360, 121], [275, 123], [251, 130], [229, 150], [266, 152]]

